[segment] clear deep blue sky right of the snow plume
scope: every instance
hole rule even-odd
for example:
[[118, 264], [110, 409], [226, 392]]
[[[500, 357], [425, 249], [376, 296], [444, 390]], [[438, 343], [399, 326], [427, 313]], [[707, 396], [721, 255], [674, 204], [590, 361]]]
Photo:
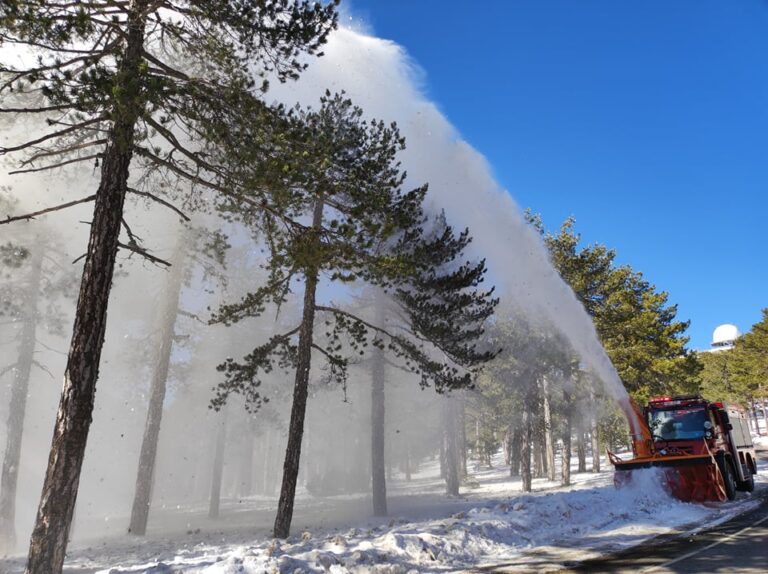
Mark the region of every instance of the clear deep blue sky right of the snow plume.
[[346, 0], [549, 228], [669, 291], [690, 346], [768, 307], [768, 2]]

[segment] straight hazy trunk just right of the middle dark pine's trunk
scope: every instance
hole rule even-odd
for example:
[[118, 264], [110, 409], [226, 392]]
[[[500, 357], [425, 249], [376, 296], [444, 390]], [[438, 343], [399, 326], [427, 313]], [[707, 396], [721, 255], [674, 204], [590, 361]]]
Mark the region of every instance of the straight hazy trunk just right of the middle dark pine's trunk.
[[[384, 319], [382, 302], [376, 306], [378, 324]], [[385, 396], [384, 351], [373, 348], [371, 356], [371, 487], [373, 490], [373, 515], [387, 515], [387, 469], [385, 460]]]

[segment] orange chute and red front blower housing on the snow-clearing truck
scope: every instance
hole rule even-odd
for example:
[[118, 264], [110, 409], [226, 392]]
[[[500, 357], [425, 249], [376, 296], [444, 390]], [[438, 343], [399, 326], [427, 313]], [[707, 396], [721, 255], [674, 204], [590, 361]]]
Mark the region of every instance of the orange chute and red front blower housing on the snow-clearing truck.
[[608, 459], [616, 469], [614, 483], [624, 486], [632, 480], [632, 471], [660, 468], [666, 489], [684, 502], [705, 502], [727, 499], [725, 483], [717, 460], [705, 441], [704, 452], [694, 454], [680, 448], [657, 449], [648, 428], [645, 415], [632, 401], [622, 403], [622, 410], [632, 429], [631, 459], [622, 459], [607, 451]]

